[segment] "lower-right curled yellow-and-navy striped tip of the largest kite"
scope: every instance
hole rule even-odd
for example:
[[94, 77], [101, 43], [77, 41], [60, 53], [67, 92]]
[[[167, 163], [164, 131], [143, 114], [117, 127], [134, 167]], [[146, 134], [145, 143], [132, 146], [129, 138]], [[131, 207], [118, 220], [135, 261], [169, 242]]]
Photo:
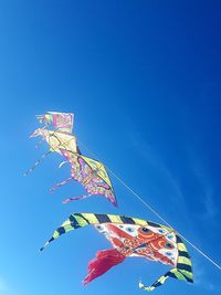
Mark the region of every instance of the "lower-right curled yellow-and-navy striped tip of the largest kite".
[[139, 282], [139, 288], [144, 291], [152, 291], [156, 287], [159, 287], [165, 284], [165, 281], [169, 277], [173, 277], [177, 280], [188, 281], [190, 283], [193, 283], [191, 277], [188, 277], [186, 273], [182, 271], [179, 271], [178, 268], [172, 268], [171, 271], [167, 272], [165, 275], [160, 276], [154, 284], [150, 286], [144, 285], [141, 282]]

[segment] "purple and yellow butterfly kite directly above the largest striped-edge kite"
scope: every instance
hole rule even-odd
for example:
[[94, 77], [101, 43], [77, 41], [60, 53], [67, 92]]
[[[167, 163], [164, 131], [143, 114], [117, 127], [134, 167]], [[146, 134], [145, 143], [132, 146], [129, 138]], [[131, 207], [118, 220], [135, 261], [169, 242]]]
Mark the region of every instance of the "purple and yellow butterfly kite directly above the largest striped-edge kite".
[[55, 185], [51, 189], [51, 192], [71, 180], [76, 180], [85, 188], [88, 194], [69, 198], [64, 200], [63, 203], [69, 203], [73, 200], [85, 199], [92, 196], [104, 196], [115, 207], [117, 206], [112, 182], [106, 168], [102, 162], [66, 149], [61, 149], [61, 154], [71, 165], [71, 177]]

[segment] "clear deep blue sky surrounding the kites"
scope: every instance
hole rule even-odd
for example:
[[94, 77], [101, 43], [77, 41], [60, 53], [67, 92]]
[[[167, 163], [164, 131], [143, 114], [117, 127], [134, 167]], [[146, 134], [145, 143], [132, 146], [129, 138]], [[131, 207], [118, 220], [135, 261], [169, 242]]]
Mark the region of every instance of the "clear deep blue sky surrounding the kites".
[[[46, 110], [73, 112], [78, 139], [221, 263], [220, 12], [219, 1], [1, 1], [1, 295], [141, 294], [140, 276], [167, 270], [128, 259], [82, 286], [87, 262], [109, 247], [90, 228], [39, 252], [71, 212], [159, 222], [114, 178], [118, 209], [103, 198], [62, 206], [83, 189], [49, 193], [69, 172], [56, 155], [24, 178], [46, 151], [29, 139]], [[188, 249], [196, 283], [170, 280], [156, 294], [220, 294], [220, 271]]]

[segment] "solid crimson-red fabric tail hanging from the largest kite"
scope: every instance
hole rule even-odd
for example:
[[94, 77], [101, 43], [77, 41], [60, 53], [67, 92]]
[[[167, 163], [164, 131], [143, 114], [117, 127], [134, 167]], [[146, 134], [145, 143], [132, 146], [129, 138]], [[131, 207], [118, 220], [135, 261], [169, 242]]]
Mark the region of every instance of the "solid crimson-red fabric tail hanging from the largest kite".
[[98, 251], [96, 257], [88, 263], [88, 275], [84, 278], [83, 284], [87, 285], [124, 260], [125, 256], [116, 249]]

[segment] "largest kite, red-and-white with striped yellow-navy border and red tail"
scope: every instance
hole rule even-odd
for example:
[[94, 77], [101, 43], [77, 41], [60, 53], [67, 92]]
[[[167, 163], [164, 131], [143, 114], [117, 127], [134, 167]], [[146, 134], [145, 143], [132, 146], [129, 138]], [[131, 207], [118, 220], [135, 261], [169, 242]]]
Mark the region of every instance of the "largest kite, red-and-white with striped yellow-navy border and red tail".
[[122, 263], [126, 257], [143, 257], [171, 265], [172, 268], [150, 286], [139, 283], [139, 288], [152, 291], [169, 277], [193, 283], [192, 264], [181, 238], [171, 228], [137, 218], [114, 214], [73, 213], [57, 228], [41, 251], [63, 233], [93, 225], [112, 243], [113, 249], [96, 253], [88, 263], [87, 285], [94, 278]]

